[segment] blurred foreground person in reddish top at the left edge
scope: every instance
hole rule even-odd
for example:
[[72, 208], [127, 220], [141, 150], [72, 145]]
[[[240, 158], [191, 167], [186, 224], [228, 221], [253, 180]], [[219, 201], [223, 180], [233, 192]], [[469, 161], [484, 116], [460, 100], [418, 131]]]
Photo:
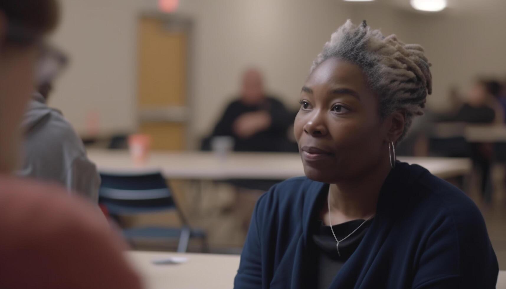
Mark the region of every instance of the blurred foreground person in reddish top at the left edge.
[[141, 288], [125, 246], [94, 205], [12, 176], [55, 0], [0, 0], [0, 288]]

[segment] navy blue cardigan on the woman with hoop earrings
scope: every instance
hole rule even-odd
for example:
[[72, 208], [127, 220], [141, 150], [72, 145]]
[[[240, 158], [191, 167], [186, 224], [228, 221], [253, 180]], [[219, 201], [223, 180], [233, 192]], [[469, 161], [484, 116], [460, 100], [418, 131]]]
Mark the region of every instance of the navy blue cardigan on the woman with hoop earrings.
[[[312, 288], [308, 256], [326, 185], [305, 177], [260, 197], [235, 288]], [[459, 189], [426, 169], [398, 162], [376, 216], [331, 288], [495, 288], [498, 265], [483, 217]]]

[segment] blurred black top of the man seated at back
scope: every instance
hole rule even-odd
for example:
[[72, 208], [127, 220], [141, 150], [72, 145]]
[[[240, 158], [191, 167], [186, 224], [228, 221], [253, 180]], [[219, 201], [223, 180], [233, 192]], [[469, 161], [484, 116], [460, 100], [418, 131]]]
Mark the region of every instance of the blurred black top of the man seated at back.
[[[272, 119], [271, 126], [250, 138], [242, 139], [234, 134], [235, 120], [244, 113], [267, 111]], [[273, 97], [266, 97], [265, 101], [258, 105], [247, 105], [240, 99], [231, 102], [220, 121], [218, 121], [212, 136], [231, 136], [234, 138], [235, 151], [290, 151], [287, 130], [293, 124], [294, 116], [286, 107]]]

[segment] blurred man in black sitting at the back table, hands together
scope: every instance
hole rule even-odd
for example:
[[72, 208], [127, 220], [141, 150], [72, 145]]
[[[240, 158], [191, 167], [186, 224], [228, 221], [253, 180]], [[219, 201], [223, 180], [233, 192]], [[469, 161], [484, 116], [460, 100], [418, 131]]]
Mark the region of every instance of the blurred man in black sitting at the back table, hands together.
[[297, 151], [288, 140], [293, 117], [279, 100], [266, 94], [262, 73], [249, 68], [242, 76], [239, 99], [227, 106], [212, 137], [233, 137], [236, 151]]

